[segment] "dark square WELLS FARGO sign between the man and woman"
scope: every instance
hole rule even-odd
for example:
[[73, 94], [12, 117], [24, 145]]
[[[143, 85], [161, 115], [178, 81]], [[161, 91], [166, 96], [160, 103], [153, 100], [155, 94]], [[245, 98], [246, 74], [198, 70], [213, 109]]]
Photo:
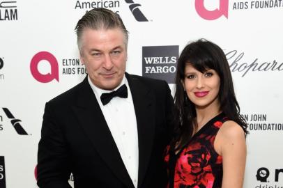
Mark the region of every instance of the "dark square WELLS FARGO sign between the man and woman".
[[142, 47], [142, 75], [174, 84], [178, 46]]

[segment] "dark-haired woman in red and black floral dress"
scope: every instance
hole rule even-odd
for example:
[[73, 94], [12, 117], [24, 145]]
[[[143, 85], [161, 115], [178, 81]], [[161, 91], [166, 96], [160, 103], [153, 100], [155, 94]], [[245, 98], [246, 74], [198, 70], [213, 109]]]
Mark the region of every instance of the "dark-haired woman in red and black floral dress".
[[175, 134], [165, 152], [168, 188], [242, 188], [247, 125], [229, 64], [213, 42], [188, 44], [178, 59]]

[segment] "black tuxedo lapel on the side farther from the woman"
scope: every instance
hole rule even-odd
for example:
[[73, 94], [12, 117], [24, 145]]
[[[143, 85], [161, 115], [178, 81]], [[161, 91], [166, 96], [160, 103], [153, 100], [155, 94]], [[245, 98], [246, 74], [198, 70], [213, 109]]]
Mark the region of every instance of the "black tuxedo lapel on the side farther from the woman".
[[87, 78], [82, 84], [82, 92], [78, 96], [77, 104], [72, 107], [79, 125], [82, 126], [108, 168], [112, 169], [127, 187], [134, 187]]

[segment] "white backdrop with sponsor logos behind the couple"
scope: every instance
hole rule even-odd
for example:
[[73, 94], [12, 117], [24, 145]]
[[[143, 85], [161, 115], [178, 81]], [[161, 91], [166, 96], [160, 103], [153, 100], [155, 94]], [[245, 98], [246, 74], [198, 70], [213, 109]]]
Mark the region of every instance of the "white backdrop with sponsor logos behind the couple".
[[37, 187], [45, 102], [84, 79], [74, 29], [95, 7], [128, 27], [127, 71], [166, 79], [172, 93], [183, 47], [220, 45], [249, 124], [244, 187], [283, 187], [282, 0], [0, 0], [1, 188]]

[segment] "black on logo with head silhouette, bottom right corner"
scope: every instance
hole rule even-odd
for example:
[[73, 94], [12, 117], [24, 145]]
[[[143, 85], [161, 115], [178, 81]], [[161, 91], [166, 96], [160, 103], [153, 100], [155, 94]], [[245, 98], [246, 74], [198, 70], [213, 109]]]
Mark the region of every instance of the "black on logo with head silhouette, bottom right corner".
[[[273, 171], [271, 171], [271, 173], [273, 173]], [[273, 182], [273, 180], [270, 180], [271, 178], [269, 178], [269, 175], [270, 175], [270, 171], [269, 169], [267, 169], [266, 167], [261, 167], [257, 170], [257, 180], [259, 182], [261, 182], [260, 185], [257, 185], [256, 188], [283, 188], [282, 185], [277, 185], [277, 182], [280, 181], [280, 173], [282, 173], [283, 175], [283, 169], [275, 169], [274, 171], [274, 182], [275, 182], [275, 185], [271, 185], [271, 182]], [[262, 184], [263, 183], [263, 184]], [[266, 183], [268, 183], [268, 185], [266, 185]]]

